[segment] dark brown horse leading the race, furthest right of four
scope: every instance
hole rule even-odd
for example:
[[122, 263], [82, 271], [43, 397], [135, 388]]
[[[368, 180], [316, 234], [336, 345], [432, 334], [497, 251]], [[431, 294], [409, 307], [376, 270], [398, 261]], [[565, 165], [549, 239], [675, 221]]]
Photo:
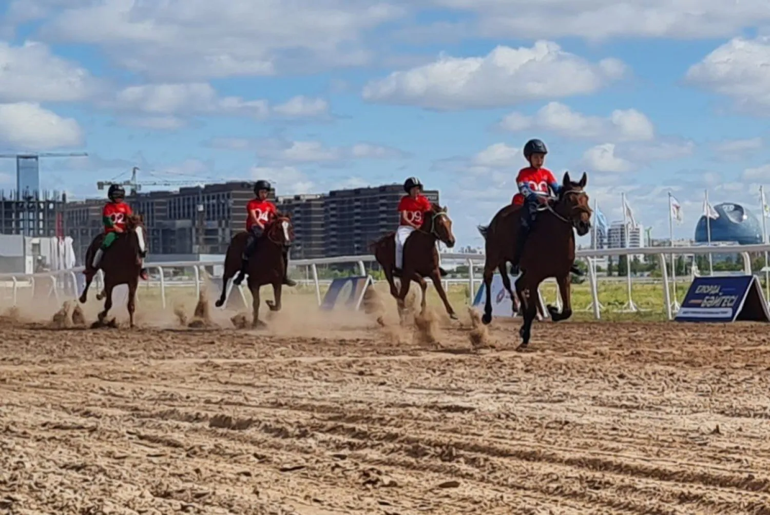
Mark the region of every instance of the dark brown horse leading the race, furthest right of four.
[[540, 304], [537, 288], [548, 277], [555, 277], [561, 295], [562, 310], [547, 306], [548, 313], [554, 322], [568, 319], [572, 316], [570, 285], [571, 273], [574, 267], [575, 240], [572, 229], [584, 236], [591, 229], [591, 208], [588, 206], [588, 194], [584, 188], [588, 178], [584, 173], [580, 182], [572, 182], [569, 172], [564, 173], [562, 191], [556, 202], [545, 206], [537, 216], [537, 223], [521, 254], [521, 275], [516, 281], [516, 295], [511, 292], [511, 279], [508, 277], [506, 265], [511, 261], [514, 242], [521, 226], [520, 216], [526, 212], [519, 206], [506, 206], [500, 209], [487, 227], [479, 230], [486, 240], [486, 263], [484, 264], [484, 285], [486, 299], [482, 322], [488, 324], [492, 320], [492, 301], [490, 286], [496, 269], [503, 276], [503, 284], [511, 293], [511, 298], [517, 298], [524, 306], [524, 324], [520, 334], [520, 348], [529, 344], [532, 321], [537, 315]]

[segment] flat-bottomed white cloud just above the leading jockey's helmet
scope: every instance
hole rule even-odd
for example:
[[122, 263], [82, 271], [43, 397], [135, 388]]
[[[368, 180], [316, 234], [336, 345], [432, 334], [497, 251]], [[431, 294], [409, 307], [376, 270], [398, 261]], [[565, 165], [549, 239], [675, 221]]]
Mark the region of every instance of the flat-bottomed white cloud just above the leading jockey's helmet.
[[607, 118], [601, 118], [574, 112], [560, 102], [548, 102], [533, 116], [511, 112], [502, 119], [500, 128], [511, 132], [550, 131], [574, 139], [649, 141], [655, 137], [650, 119], [636, 109], [615, 109]]

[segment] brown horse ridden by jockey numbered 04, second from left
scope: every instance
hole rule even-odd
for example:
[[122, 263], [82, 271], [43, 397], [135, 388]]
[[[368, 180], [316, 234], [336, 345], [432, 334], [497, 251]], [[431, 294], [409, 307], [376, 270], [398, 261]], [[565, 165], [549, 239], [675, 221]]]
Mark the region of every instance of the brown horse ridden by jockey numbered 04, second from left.
[[[233, 276], [239, 273], [241, 268], [241, 256], [243, 249], [246, 249], [246, 239], [249, 233], [239, 232], [233, 236], [233, 240], [227, 247], [225, 255], [225, 271], [222, 276], [222, 294], [216, 300], [216, 307], [222, 307], [227, 300], [227, 283]], [[249, 291], [253, 298], [253, 327], [263, 327], [265, 323], [259, 320], [259, 287], [269, 284], [273, 286], [273, 297], [275, 301], [266, 300], [265, 303], [270, 311], [280, 311], [281, 309], [281, 289], [283, 287], [283, 278], [286, 273], [288, 263], [283, 257], [284, 247], [290, 246], [294, 239], [294, 229], [290, 216], [287, 214], [278, 215], [272, 223], [267, 226], [263, 236], [257, 241], [256, 252], [249, 259], [249, 278], [246, 284], [249, 285]]]

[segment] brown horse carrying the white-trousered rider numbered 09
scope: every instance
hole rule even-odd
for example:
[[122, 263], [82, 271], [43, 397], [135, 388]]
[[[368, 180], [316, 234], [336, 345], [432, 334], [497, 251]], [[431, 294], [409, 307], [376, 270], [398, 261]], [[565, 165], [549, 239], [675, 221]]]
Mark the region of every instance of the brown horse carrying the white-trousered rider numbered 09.
[[396, 233], [389, 232], [376, 242], [371, 243], [370, 250], [373, 252], [377, 263], [383, 267], [385, 278], [390, 285], [390, 295], [396, 298], [398, 303], [398, 313], [403, 322], [404, 303], [411, 281], [420, 285], [423, 292], [423, 299], [420, 305], [422, 311], [426, 308], [426, 290], [427, 283], [424, 277], [430, 277], [433, 281], [436, 291], [444, 303], [451, 319], [456, 320], [457, 315], [447, 299], [447, 293], [441, 284], [441, 270], [439, 266], [437, 241], [444, 242], [447, 247], [454, 247], [454, 234], [452, 234], [452, 220], [447, 215], [447, 208], [432, 203], [431, 209], [423, 216], [423, 223], [420, 229], [413, 231], [403, 245], [403, 269], [401, 270], [401, 288], [396, 289], [393, 282], [393, 270], [396, 264]]

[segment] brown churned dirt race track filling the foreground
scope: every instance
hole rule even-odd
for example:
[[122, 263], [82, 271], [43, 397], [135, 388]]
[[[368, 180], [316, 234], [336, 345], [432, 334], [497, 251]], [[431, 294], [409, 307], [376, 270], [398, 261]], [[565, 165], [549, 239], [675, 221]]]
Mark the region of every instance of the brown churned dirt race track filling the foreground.
[[770, 513], [768, 326], [493, 324], [0, 329], [0, 513]]

